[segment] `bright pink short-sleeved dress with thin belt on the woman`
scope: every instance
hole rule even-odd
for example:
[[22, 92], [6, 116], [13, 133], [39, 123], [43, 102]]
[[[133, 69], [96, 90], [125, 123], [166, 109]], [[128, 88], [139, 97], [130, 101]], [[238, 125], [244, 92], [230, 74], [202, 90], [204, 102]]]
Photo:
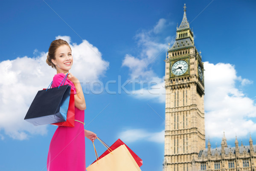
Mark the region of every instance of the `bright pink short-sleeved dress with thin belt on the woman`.
[[[52, 87], [58, 87], [65, 74], [58, 73], [53, 77]], [[62, 83], [63, 84], [63, 83]], [[76, 88], [70, 80], [76, 94]], [[84, 122], [84, 110], [75, 107], [75, 119]], [[84, 125], [75, 121], [75, 127], [58, 126], [56, 129], [47, 157], [47, 171], [85, 171], [85, 140]]]

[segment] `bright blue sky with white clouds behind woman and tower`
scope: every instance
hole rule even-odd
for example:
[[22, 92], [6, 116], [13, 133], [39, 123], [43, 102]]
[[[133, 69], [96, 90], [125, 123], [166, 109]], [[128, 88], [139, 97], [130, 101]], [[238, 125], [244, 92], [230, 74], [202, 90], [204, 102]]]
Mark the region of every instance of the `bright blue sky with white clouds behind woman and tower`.
[[[72, 48], [70, 70], [87, 104], [85, 129], [108, 145], [118, 138], [141, 159], [143, 171], [161, 171], [164, 158], [165, 57], [175, 42], [183, 6], [201, 50], [205, 79], [205, 130], [212, 148], [223, 132], [256, 144], [253, 0], [1, 0], [0, 170], [46, 171], [56, 126], [23, 120], [38, 90], [56, 71], [45, 60], [50, 43]], [[93, 144], [85, 140], [86, 165]], [[96, 142], [98, 154], [105, 151]]]

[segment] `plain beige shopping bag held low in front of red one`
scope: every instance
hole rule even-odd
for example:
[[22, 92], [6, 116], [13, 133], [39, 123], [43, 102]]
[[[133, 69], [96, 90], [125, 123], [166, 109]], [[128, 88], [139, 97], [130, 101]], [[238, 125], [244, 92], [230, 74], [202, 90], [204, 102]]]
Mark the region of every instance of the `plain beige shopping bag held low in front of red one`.
[[125, 145], [88, 166], [87, 171], [141, 171]]

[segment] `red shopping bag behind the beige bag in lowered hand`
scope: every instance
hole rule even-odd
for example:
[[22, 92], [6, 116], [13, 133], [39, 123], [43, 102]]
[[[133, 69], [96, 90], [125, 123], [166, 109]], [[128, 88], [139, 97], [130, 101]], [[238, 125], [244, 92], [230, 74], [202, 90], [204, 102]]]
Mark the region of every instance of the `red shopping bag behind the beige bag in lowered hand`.
[[[141, 158], [140, 158], [139, 156], [137, 156], [137, 154], [135, 154], [134, 151], [132, 151], [124, 142], [122, 142], [122, 140], [120, 140], [120, 139], [116, 140], [116, 142], [113, 143], [113, 145], [110, 146], [109, 149], [114, 150], [114, 149], [116, 149], [116, 148], [118, 148], [119, 146], [122, 146], [122, 145], [125, 145], [125, 146], [127, 147], [128, 151], [131, 153], [132, 157], [134, 158], [134, 160], [136, 161], [136, 163], [139, 165], [139, 167], [142, 166], [143, 161], [141, 160]], [[109, 150], [105, 151], [105, 152], [99, 157], [99, 159], [101, 159], [102, 157], [106, 156], [106, 155], [109, 154], [109, 153], [110, 153]], [[95, 160], [93, 163], [95, 163], [96, 161], [97, 161], [97, 160]]]

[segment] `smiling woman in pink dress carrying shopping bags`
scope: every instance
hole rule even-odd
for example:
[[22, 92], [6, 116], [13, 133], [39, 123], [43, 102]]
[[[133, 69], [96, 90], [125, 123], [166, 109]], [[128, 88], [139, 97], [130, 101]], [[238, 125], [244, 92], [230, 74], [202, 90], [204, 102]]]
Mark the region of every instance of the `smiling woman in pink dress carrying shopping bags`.
[[97, 138], [96, 134], [84, 129], [84, 109], [86, 104], [84, 93], [79, 80], [69, 73], [73, 64], [73, 57], [69, 44], [62, 39], [52, 41], [47, 64], [57, 70], [53, 77], [52, 87], [58, 87], [63, 78], [68, 74], [65, 84], [74, 90], [75, 97], [75, 126], [58, 126], [56, 129], [47, 157], [48, 171], [85, 171], [85, 140]]

